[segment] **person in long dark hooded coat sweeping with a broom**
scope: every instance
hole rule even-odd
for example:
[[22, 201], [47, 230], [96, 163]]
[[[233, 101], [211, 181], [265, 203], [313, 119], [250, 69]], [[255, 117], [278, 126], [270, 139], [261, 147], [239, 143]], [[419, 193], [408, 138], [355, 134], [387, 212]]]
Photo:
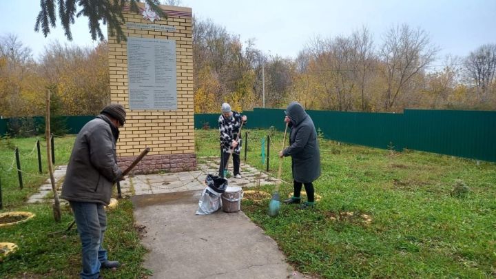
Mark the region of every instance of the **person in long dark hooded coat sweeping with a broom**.
[[298, 102], [291, 102], [285, 110], [285, 122], [291, 128], [289, 147], [279, 152], [279, 156], [291, 156], [293, 171], [293, 196], [283, 203], [300, 203], [302, 185], [307, 192], [307, 202], [300, 208], [315, 205], [313, 181], [320, 176], [320, 150], [317, 131], [310, 116]]

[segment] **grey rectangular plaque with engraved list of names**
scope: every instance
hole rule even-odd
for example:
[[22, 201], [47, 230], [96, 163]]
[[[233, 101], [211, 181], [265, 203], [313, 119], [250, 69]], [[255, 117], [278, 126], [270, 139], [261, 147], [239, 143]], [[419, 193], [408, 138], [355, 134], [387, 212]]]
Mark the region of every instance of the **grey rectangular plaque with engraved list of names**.
[[177, 110], [176, 41], [127, 37], [131, 110]]

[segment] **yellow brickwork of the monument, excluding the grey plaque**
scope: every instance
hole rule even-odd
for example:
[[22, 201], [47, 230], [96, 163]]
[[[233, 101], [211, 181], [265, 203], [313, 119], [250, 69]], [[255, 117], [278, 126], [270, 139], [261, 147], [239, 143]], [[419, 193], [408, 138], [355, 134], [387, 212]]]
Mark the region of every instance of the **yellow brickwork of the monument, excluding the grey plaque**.
[[[144, 8], [143, 3], [138, 4]], [[160, 6], [168, 18], [153, 23], [143, 19], [141, 13], [124, 11], [126, 22], [173, 25], [175, 32], [127, 29], [121, 25], [126, 37], [169, 39], [176, 41], [177, 110], [130, 110], [127, 79], [127, 42], [117, 42], [108, 33], [110, 100], [124, 105], [127, 111], [125, 126], [117, 145], [120, 165], [129, 165], [145, 147], [150, 147], [149, 156], [143, 160], [149, 167], [138, 167], [143, 172], [158, 170], [179, 171], [194, 169], [194, 95], [193, 95], [193, 47], [192, 9]], [[153, 160], [152, 160], [153, 159]], [[184, 161], [181, 161], [183, 160]], [[179, 162], [178, 162], [179, 160]], [[159, 164], [156, 164], [159, 161]], [[127, 162], [127, 163], [126, 163]]]

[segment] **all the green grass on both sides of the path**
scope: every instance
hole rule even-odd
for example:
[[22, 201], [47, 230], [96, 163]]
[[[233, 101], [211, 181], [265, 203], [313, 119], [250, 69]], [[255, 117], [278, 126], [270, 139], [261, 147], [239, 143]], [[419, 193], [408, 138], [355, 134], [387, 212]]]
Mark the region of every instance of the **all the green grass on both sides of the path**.
[[[260, 141], [271, 135], [269, 172], [276, 176], [282, 133], [247, 131], [247, 163], [264, 170]], [[68, 162], [73, 141], [73, 136], [55, 138], [56, 165]], [[47, 235], [69, 225], [68, 210], [63, 210], [63, 221], [55, 223], [49, 204], [25, 205], [48, 178], [45, 166], [45, 173], [37, 174], [35, 143], [36, 138], [0, 143], [4, 201], [0, 212], [37, 214], [26, 223], [0, 227], [0, 242], [19, 246], [17, 253], [0, 263], [0, 278], [76, 278], [81, 267], [77, 234]], [[21, 163], [26, 162], [23, 171], [29, 173], [23, 190], [19, 190], [15, 165], [10, 168], [15, 146], [21, 149]], [[319, 278], [496, 277], [496, 164], [324, 140], [320, 149], [322, 176], [314, 184], [322, 200], [315, 209], [282, 206], [279, 216], [271, 218], [268, 200], [260, 205], [249, 200], [242, 203], [245, 214], [278, 242], [296, 269]], [[217, 130], [196, 130], [198, 157], [218, 156], [218, 150]], [[291, 182], [290, 158], [283, 161], [282, 179]], [[465, 196], [451, 195], [455, 180], [468, 186]], [[260, 190], [271, 193], [273, 185]], [[291, 184], [281, 185], [283, 198], [292, 191]], [[108, 219], [106, 248], [112, 259], [126, 265], [116, 272], [103, 271], [103, 276], [145, 277], [151, 271], [142, 267], [146, 251], [133, 227], [130, 200], [120, 200]]]

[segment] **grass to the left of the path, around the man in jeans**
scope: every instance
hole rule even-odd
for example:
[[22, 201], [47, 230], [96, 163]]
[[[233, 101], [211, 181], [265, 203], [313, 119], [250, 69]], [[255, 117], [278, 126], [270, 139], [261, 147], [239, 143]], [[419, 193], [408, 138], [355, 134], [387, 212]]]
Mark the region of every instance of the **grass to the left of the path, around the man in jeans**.
[[[39, 174], [36, 151], [37, 138], [2, 138], [0, 141], [0, 178], [3, 196], [2, 212], [30, 211], [35, 218], [10, 227], [0, 227], [0, 242], [14, 242], [19, 249], [6, 258], [0, 257], [0, 278], [79, 278], [81, 243], [75, 230], [48, 236], [53, 231], [67, 229], [72, 222], [68, 207], [62, 208], [61, 223], [56, 223], [50, 203], [26, 205], [28, 197], [48, 178], [46, 145], [41, 139], [43, 174]], [[54, 138], [55, 163], [67, 165], [74, 136]], [[23, 189], [15, 165], [14, 148], [19, 147]], [[34, 152], [33, 152], [34, 149]], [[14, 166], [12, 166], [14, 162]], [[107, 212], [108, 227], [104, 245], [110, 259], [125, 262], [117, 271], [103, 271], [105, 278], [142, 278], [150, 271], [141, 267], [145, 248], [134, 229], [132, 203], [119, 200], [119, 206]]]

